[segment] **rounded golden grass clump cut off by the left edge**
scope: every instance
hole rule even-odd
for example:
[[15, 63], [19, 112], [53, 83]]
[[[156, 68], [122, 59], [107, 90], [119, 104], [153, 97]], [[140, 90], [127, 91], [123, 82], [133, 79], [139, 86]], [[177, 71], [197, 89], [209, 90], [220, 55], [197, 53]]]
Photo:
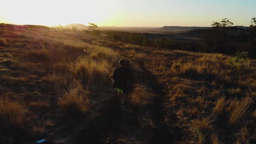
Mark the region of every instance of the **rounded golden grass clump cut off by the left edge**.
[[0, 97], [0, 129], [21, 128], [27, 113], [25, 106], [10, 98]]

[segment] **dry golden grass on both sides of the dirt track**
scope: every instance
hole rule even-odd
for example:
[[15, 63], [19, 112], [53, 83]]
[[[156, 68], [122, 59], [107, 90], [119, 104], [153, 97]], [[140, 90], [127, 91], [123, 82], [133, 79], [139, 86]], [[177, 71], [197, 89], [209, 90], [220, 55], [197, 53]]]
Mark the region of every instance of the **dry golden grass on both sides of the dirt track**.
[[[161, 106], [166, 108], [164, 119], [170, 120], [167, 125], [173, 128], [176, 124], [182, 130], [181, 141], [177, 143], [235, 142], [236, 136], [239, 137], [238, 141], [246, 143], [248, 137], [252, 137], [250, 130], [254, 129], [252, 123], [256, 119], [256, 110], [249, 106], [256, 95], [255, 60], [249, 60], [249, 74], [241, 76], [237, 87], [229, 65], [231, 57], [222, 54], [141, 47], [82, 33], [30, 26], [0, 25], [0, 33], [0, 51], [4, 53], [0, 55], [0, 69], [4, 72], [0, 78], [4, 83], [0, 85], [0, 93], [13, 92], [15, 94], [11, 98], [22, 96], [26, 100], [32, 113], [26, 118], [30, 122], [26, 123], [27, 131], [43, 133], [44, 127], [58, 127], [54, 120], [47, 120], [45, 126], [34, 124], [33, 115], [37, 113], [40, 113], [40, 118], [48, 118], [48, 114], [59, 115], [59, 109], [66, 116], [82, 115], [88, 111], [87, 95], [89, 90], [93, 91], [90, 87], [111, 87], [106, 77], [118, 66], [120, 58], [117, 52], [109, 48], [121, 48], [122, 54], [146, 64], [144, 66], [158, 76], [164, 86], [163, 91], [170, 96], [165, 98], [164, 95], [164, 105]], [[130, 95], [132, 104], [149, 104], [154, 94], [149, 93], [148, 86], [134, 86], [134, 92]], [[243, 98], [245, 95], [250, 98]], [[0, 124], [21, 127], [27, 110], [11, 98], [0, 98]], [[42, 101], [46, 99], [49, 101]], [[8, 103], [5, 106], [7, 110], [3, 110], [5, 103]], [[215, 119], [212, 112], [230, 115], [214, 115]], [[169, 113], [177, 113], [177, 117]], [[38, 115], [35, 117], [39, 118]], [[246, 128], [243, 120], [249, 122]], [[220, 126], [227, 122], [236, 130]], [[218, 134], [219, 131], [229, 133], [221, 133], [222, 136]], [[117, 141], [130, 142], [126, 137]]]

